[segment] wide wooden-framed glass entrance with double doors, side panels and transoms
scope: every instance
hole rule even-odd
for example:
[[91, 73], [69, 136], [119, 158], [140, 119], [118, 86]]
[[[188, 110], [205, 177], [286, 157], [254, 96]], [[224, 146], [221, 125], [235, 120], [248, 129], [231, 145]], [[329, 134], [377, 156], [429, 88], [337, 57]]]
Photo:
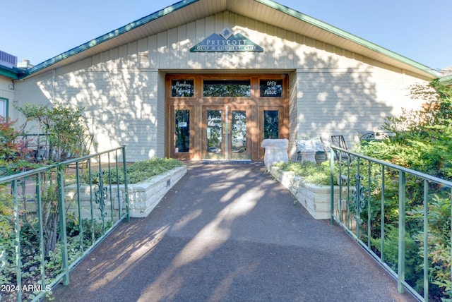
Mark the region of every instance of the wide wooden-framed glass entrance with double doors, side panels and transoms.
[[288, 138], [286, 75], [221, 77], [167, 75], [165, 156], [261, 160], [263, 139]]

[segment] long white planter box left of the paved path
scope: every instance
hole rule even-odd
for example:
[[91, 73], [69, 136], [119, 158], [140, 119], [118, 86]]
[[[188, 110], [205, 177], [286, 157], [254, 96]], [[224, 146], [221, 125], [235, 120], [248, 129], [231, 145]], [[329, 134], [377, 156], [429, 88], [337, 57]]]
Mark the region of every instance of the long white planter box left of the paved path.
[[[149, 213], [160, 203], [163, 196], [174, 186], [182, 176], [186, 174], [186, 167], [179, 167], [172, 169], [165, 174], [154, 176], [150, 181], [144, 183], [129, 184], [129, 210], [130, 217], [147, 217]], [[105, 185], [107, 193], [107, 200], [105, 200], [104, 215], [106, 217], [119, 217], [119, 207], [123, 211], [126, 209], [124, 200], [124, 185]], [[118, 196], [118, 188], [121, 193]], [[91, 217], [91, 196], [93, 196], [93, 211], [94, 217], [100, 218], [101, 212], [99, 205], [95, 203], [95, 189], [97, 186], [93, 185], [93, 190], [90, 186], [81, 186], [81, 216], [82, 218]], [[76, 212], [76, 186], [66, 186], [64, 188], [66, 195], [66, 203], [71, 203], [69, 210]], [[110, 198], [111, 196], [111, 198]], [[123, 202], [124, 200], [124, 202]], [[124, 213], [124, 212], [123, 212]]]

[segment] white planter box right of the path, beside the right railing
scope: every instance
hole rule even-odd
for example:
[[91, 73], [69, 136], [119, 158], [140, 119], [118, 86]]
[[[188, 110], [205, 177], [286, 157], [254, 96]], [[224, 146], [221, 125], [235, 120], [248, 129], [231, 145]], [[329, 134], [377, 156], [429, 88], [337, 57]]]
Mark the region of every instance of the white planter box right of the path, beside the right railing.
[[[271, 167], [269, 171], [275, 179], [290, 190], [312, 217], [331, 218], [331, 186], [304, 183], [301, 177], [294, 176], [292, 172], [280, 171], [276, 167]], [[334, 195], [339, 196], [339, 187], [334, 187]]]

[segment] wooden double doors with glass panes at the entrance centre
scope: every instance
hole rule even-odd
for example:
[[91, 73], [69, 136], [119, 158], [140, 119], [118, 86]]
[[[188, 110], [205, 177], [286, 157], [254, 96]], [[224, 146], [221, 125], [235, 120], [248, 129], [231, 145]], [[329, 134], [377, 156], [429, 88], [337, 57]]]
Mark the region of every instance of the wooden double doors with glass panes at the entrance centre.
[[203, 159], [249, 160], [249, 107], [203, 107]]

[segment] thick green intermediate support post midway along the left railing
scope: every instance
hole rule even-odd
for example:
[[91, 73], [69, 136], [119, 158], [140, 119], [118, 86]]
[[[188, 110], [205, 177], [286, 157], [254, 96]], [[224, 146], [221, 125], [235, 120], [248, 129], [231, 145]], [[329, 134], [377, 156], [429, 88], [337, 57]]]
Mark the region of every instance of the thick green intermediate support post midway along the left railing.
[[68, 264], [68, 240], [66, 231], [66, 204], [64, 203], [64, 168], [58, 165], [58, 203], [59, 203], [59, 226], [61, 240], [61, 258], [63, 260], [63, 284], [69, 284]]

